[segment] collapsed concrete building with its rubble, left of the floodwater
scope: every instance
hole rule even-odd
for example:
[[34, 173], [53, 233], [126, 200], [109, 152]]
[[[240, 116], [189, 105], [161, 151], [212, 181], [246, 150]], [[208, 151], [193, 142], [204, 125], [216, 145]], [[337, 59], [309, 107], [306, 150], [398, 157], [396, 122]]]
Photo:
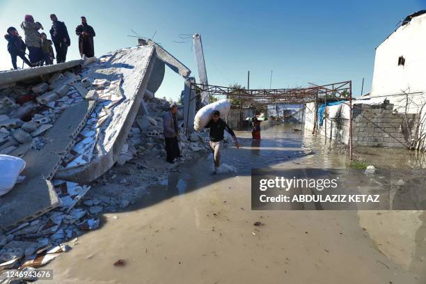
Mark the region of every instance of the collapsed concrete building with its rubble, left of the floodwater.
[[162, 116], [170, 104], [155, 97], [166, 65], [184, 81], [183, 161], [206, 148], [206, 133], [186, 127], [194, 121], [195, 79], [151, 40], [100, 58], [0, 73], [0, 154], [26, 162], [23, 180], [0, 196], [0, 270], [42, 265], [66, 251], [63, 242], [97, 228], [102, 210], [129, 205], [125, 198], [84, 200], [90, 183], [115, 164], [137, 153], [166, 164]]

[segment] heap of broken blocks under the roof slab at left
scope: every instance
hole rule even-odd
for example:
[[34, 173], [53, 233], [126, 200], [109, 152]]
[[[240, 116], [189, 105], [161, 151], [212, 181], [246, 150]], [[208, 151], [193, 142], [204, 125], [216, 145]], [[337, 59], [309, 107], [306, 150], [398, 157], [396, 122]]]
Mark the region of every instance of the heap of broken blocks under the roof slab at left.
[[3, 89], [0, 93], [0, 154], [10, 154], [24, 144], [42, 148], [42, 134], [53, 126], [63, 109], [84, 100], [75, 88], [81, 82], [87, 87], [91, 85], [79, 75], [65, 72], [36, 86]]

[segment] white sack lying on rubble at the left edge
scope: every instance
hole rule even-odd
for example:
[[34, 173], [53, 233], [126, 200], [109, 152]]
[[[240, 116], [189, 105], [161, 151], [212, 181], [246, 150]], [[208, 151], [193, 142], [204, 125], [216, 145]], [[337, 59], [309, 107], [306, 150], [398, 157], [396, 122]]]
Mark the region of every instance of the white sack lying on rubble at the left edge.
[[7, 194], [15, 186], [19, 173], [25, 168], [21, 158], [0, 155], [0, 196]]

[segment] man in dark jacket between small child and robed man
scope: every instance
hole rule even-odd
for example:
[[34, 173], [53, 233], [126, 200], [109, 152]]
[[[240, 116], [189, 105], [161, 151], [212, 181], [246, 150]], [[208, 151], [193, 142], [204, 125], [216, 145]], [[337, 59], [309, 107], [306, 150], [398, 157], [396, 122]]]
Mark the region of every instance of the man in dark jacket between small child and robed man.
[[50, 36], [54, 42], [56, 50], [56, 63], [63, 63], [67, 60], [68, 47], [71, 45], [70, 36], [65, 24], [58, 21], [55, 14], [50, 15], [52, 19], [52, 29], [50, 29]]

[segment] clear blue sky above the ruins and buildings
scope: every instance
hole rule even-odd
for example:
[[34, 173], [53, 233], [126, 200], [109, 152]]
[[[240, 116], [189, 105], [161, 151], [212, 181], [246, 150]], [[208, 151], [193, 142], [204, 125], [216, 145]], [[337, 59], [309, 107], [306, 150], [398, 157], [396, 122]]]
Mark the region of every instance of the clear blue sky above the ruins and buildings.
[[[426, 8], [426, 0], [404, 1], [6, 1], [0, 0], [0, 29], [17, 27], [33, 15], [48, 33], [50, 13], [65, 22], [71, 36], [68, 59], [78, 58], [74, 30], [85, 15], [96, 31], [95, 54], [136, 45], [130, 29], [161, 43], [187, 65], [198, 80], [191, 40], [179, 34], [200, 33], [210, 84], [251, 88], [306, 86], [352, 79], [354, 95], [370, 91], [375, 47], [400, 19]], [[0, 45], [0, 70], [11, 67]], [[20, 61], [18, 61], [18, 64]], [[21, 63], [22, 64], [22, 63]], [[166, 68], [157, 96], [178, 100], [183, 79]]]

